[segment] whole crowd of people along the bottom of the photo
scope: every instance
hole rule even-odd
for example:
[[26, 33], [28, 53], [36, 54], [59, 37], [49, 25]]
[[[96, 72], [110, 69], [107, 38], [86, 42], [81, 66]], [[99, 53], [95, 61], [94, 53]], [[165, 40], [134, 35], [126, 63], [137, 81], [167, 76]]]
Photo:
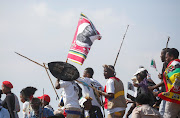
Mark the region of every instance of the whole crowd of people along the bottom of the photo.
[[[13, 84], [2, 82], [0, 98], [0, 118], [18, 118], [22, 111], [23, 118], [180, 118], [180, 60], [179, 51], [165, 48], [161, 52], [162, 72], [156, 84], [147, 69], [139, 67], [134, 74], [134, 95], [125, 96], [123, 81], [116, 77], [112, 65], [104, 65], [105, 87], [93, 78], [92, 68], [86, 68], [82, 78], [73, 81], [57, 79], [55, 88], [62, 88], [58, 109], [50, 105], [50, 96], [44, 94], [34, 97], [37, 88], [28, 86], [20, 91], [20, 103], [11, 92]], [[81, 83], [81, 85], [80, 85]], [[130, 109], [127, 105], [131, 104]], [[104, 114], [107, 109], [108, 116]], [[127, 111], [127, 112], [126, 112]]]

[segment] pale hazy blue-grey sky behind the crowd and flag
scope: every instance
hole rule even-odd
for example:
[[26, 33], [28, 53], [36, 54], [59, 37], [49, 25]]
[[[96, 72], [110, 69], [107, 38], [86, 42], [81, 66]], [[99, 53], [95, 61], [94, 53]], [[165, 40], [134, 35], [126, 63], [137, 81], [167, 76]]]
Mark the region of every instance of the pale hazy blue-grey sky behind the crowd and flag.
[[[65, 61], [82, 12], [94, 23], [102, 39], [94, 42], [82, 66], [68, 61], [81, 76], [85, 68], [92, 67], [94, 79], [105, 85], [102, 65], [114, 64], [130, 25], [116, 63], [117, 77], [127, 92], [127, 82], [143, 65], [158, 83], [157, 73], [150, 67], [151, 59], [155, 59], [160, 72], [160, 53], [168, 36], [168, 46], [180, 50], [179, 6], [179, 0], [0, 0], [0, 82], [11, 81], [17, 96], [26, 86], [37, 87], [35, 96], [42, 95], [44, 88], [56, 109], [58, 101], [45, 69], [14, 52], [41, 64]], [[56, 79], [51, 78], [55, 83]]]

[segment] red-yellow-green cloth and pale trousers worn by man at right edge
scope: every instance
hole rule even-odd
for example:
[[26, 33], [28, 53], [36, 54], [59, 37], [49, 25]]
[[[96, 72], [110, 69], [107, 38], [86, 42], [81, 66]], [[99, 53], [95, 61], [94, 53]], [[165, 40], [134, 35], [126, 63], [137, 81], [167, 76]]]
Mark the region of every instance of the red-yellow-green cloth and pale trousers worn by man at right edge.
[[160, 93], [158, 96], [166, 100], [164, 117], [176, 117], [180, 113], [180, 60], [171, 61], [164, 74], [163, 80], [166, 92]]

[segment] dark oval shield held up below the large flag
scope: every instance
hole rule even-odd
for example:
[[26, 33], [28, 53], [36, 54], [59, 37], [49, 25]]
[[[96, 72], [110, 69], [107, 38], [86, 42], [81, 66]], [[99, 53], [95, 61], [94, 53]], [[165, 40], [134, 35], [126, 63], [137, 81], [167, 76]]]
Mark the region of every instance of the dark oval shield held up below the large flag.
[[50, 62], [48, 68], [51, 74], [58, 80], [73, 81], [79, 78], [77, 68], [65, 62]]

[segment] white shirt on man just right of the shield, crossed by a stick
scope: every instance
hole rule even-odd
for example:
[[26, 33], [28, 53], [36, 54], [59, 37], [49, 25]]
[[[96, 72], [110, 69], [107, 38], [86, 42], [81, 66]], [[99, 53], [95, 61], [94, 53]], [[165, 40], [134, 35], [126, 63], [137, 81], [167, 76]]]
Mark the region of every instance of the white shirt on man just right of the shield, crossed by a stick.
[[[102, 85], [98, 81], [96, 81], [96, 80], [94, 80], [92, 78], [87, 78], [87, 77], [79, 78], [78, 81], [83, 81], [83, 82], [87, 83], [88, 85], [95, 87], [96, 89], [103, 90]], [[82, 87], [82, 95], [83, 95], [83, 97], [86, 97], [86, 95], [88, 93], [89, 97], [92, 97], [92, 101], [91, 101], [92, 105], [101, 107], [101, 105], [99, 104], [99, 102], [96, 99], [96, 96], [94, 94], [93, 89], [90, 88], [90, 87], [88, 88], [88, 87], [86, 87], [84, 85], [82, 85], [81, 87]]]

